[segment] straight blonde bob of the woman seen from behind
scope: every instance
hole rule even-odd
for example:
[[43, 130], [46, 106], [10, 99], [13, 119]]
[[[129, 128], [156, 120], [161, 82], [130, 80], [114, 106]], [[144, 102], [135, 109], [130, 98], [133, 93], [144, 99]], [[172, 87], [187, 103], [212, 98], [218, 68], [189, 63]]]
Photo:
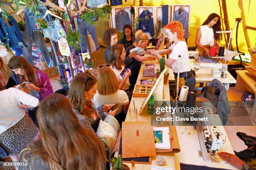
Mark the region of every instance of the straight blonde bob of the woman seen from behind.
[[97, 82], [97, 91], [100, 95], [111, 95], [118, 91], [118, 79], [114, 71], [108, 66], [100, 67]]

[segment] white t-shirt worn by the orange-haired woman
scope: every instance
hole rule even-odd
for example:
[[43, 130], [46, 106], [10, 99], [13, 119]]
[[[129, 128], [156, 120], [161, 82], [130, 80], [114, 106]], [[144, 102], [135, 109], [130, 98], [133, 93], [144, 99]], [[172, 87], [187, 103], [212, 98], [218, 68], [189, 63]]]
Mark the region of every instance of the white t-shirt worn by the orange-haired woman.
[[[179, 65], [179, 72], [187, 72], [191, 70], [191, 67], [189, 65], [189, 56], [188, 56], [188, 50], [187, 50], [187, 44], [185, 41], [179, 41], [177, 44], [173, 43], [171, 47], [169, 47], [170, 50], [172, 50], [172, 53], [170, 54], [169, 58], [172, 58], [176, 60], [171, 66], [172, 70], [175, 73], [178, 73], [178, 65], [179, 65], [179, 55], [180, 55], [180, 65]], [[167, 59], [168, 60], [168, 59]]]

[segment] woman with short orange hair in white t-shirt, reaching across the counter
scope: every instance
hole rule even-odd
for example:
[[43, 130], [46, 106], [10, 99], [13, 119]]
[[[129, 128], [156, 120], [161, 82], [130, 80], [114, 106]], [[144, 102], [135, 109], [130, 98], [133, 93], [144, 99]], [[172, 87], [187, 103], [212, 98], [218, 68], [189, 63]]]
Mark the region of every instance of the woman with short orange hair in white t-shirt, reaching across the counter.
[[187, 50], [187, 44], [183, 38], [183, 27], [178, 21], [173, 21], [164, 27], [166, 31], [166, 37], [170, 42], [174, 42], [171, 47], [164, 50], [148, 51], [150, 55], [156, 56], [159, 60], [161, 55], [170, 54], [168, 59], [165, 59], [165, 65], [171, 66], [174, 72], [175, 85], [177, 85], [178, 75], [178, 57], [180, 57], [179, 66], [179, 89], [182, 85], [187, 85], [189, 91], [193, 91], [195, 87], [195, 73], [189, 66], [189, 56]]

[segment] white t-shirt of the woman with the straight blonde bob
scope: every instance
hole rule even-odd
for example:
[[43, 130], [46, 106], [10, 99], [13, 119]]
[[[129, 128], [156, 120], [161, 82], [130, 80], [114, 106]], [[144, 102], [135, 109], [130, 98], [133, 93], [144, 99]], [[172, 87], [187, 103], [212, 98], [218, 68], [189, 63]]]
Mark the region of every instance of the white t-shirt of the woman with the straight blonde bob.
[[123, 110], [123, 105], [129, 102], [128, 95], [123, 90], [118, 90], [114, 94], [111, 95], [100, 95], [98, 92], [93, 97], [93, 102], [95, 107], [99, 107], [105, 104], [116, 104], [118, 103], [118, 111], [115, 115], [118, 115]]

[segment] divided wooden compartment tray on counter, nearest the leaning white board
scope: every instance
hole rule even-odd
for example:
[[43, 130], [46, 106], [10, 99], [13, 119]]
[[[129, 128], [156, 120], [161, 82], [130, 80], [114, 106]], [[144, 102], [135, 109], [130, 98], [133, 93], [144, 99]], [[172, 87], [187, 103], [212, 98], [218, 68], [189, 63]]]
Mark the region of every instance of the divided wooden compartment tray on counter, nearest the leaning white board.
[[[151, 91], [153, 85], [135, 85], [133, 89], [133, 97], [147, 97]], [[163, 88], [163, 99], [164, 99], [164, 88]]]

